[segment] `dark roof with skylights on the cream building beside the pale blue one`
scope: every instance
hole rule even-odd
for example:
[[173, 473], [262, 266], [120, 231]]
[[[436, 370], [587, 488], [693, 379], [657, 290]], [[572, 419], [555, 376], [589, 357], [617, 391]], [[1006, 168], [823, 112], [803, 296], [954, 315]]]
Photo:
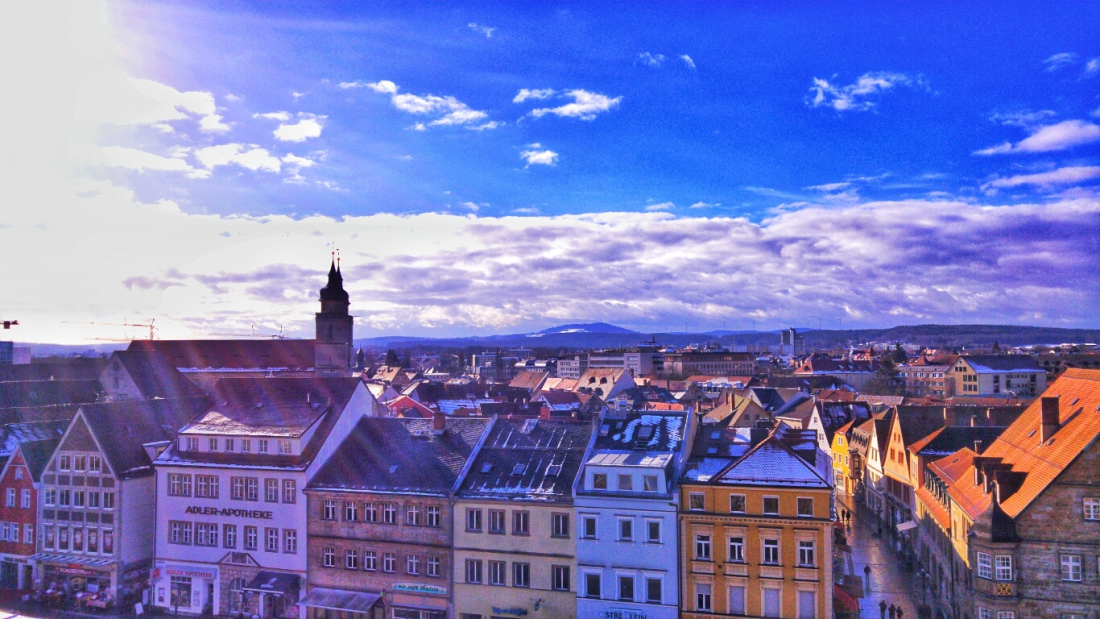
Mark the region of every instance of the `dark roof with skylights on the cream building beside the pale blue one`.
[[497, 419], [458, 496], [572, 501], [593, 425], [585, 421]]

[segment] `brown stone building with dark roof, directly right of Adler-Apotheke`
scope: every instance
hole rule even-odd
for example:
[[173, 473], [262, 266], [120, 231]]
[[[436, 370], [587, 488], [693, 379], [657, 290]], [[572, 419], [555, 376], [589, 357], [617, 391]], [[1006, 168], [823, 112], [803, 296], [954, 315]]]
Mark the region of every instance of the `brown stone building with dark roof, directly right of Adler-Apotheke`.
[[492, 419], [363, 419], [310, 483], [307, 619], [454, 617], [453, 493]]

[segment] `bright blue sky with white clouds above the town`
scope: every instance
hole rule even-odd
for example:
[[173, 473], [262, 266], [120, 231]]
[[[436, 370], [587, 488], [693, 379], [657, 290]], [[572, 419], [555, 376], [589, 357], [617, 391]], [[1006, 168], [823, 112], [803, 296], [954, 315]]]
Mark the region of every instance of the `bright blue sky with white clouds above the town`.
[[81, 32], [30, 56], [64, 68], [78, 189], [10, 250], [64, 253], [81, 201], [99, 244], [152, 218], [67, 301], [88, 319], [306, 333], [340, 246], [363, 334], [1097, 325], [1085, 2], [96, 9], [34, 15]]

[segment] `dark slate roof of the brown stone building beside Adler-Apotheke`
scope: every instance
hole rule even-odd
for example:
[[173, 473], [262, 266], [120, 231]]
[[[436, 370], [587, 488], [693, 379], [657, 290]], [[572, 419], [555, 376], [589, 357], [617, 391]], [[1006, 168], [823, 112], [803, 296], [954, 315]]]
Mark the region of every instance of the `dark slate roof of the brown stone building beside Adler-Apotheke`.
[[491, 419], [364, 418], [309, 484], [311, 489], [447, 494]]

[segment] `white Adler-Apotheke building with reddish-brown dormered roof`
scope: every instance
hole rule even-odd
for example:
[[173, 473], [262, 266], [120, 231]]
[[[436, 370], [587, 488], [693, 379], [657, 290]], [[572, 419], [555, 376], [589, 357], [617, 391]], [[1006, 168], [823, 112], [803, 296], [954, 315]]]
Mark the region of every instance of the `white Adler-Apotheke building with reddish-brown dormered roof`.
[[152, 604], [297, 619], [302, 490], [378, 404], [358, 378], [226, 378], [215, 401], [154, 463]]

